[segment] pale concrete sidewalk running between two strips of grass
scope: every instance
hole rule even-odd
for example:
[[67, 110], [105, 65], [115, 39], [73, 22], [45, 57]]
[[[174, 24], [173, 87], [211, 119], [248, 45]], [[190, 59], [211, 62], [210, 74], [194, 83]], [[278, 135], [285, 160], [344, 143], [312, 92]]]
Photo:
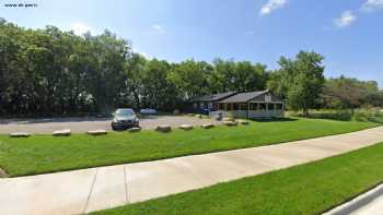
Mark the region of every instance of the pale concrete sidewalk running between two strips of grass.
[[0, 214], [81, 214], [212, 186], [383, 142], [383, 127], [278, 145], [0, 179]]

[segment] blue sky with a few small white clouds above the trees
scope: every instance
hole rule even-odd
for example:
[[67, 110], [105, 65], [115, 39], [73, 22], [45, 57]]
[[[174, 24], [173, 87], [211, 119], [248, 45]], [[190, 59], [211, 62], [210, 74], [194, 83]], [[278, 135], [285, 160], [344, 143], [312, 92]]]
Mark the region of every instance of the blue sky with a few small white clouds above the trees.
[[327, 77], [383, 87], [383, 0], [0, 0], [0, 17], [77, 34], [107, 28], [135, 51], [172, 62], [222, 58], [277, 69], [281, 56], [313, 50], [325, 57]]

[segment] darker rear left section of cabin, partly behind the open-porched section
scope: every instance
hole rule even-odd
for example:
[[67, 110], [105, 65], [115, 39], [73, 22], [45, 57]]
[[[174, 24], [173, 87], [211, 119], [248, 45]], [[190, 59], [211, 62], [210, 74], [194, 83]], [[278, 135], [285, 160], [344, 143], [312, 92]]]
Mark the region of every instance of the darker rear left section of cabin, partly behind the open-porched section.
[[219, 101], [235, 95], [236, 92], [227, 92], [227, 93], [219, 93], [219, 94], [211, 94], [206, 95], [197, 98], [193, 98], [190, 100], [190, 104], [193, 105], [194, 110], [202, 110], [202, 109], [209, 109], [210, 111], [218, 110], [218, 104]]

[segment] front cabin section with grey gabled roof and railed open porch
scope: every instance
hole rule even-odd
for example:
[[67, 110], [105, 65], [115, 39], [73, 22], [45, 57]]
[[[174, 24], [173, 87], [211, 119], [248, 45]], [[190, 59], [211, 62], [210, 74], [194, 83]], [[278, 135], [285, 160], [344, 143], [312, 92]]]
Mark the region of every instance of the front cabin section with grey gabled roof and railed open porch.
[[269, 91], [239, 93], [220, 100], [218, 110], [237, 118], [283, 117], [285, 101]]

